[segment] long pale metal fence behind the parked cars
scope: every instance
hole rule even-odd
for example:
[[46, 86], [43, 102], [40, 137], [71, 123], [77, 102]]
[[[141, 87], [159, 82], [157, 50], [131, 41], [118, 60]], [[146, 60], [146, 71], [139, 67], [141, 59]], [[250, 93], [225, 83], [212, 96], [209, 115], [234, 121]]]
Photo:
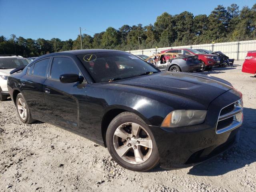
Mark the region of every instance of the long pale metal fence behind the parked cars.
[[127, 52], [130, 52], [134, 55], [143, 54], [147, 56], [152, 56], [153, 54], [156, 54], [160, 51], [163, 51], [166, 49], [176, 49], [176, 48], [192, 48], [192, 49], [206, 49], [206, 50], [212, 50], [212, 51], [221, 51], [222, 53], [227, 55], [229, 58], [236, 59], [236, 60], [244, 60], [248, 51], [256, 50], [256, 40], [152, 48], [152, 49], [143, 49], [143, 50], [132, 50]]

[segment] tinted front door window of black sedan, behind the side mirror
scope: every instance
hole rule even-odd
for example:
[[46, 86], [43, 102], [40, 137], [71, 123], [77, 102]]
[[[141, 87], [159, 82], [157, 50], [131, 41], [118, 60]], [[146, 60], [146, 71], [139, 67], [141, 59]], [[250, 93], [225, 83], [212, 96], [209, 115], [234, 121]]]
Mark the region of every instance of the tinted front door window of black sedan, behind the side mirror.
[[78, 74], [80, 75], [80, 70], [73, 62], [72, 59], [68, 57], [54, 57], [52, 61], [51, 78], [55, 80], [60, 79], [60, 75], [63, 74]]

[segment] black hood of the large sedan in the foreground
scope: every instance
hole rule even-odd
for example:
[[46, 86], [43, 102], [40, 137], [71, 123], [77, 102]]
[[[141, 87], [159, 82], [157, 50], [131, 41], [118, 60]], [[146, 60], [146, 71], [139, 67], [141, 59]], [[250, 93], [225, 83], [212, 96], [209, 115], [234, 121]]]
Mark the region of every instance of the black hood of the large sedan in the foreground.
[[165, 93], [194, 100], [207, 108], [212, 100], [233, 88], [229, 82], [219, 78], [183, 72], [159, 72], [114, 83], [144, 89], [147, 95]]

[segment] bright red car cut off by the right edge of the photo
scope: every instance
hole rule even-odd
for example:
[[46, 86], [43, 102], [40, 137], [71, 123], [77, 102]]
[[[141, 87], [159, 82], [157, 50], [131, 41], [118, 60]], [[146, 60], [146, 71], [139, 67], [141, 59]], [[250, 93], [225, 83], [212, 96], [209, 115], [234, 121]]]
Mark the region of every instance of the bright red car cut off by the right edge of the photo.
[[256, 51], [248, 51], [242, 72], [256, 74]]

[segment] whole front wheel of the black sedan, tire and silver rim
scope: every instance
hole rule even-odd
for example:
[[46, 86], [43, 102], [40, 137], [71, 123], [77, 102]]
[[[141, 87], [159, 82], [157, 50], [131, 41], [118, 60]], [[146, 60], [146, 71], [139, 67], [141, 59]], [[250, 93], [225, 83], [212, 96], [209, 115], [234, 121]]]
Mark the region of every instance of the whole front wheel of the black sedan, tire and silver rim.
[[123, 112], [109, 124], [106, 144], [112, 158], [126, 169], [147, 171], [159, 162], [151, 130], [136, 114]]

